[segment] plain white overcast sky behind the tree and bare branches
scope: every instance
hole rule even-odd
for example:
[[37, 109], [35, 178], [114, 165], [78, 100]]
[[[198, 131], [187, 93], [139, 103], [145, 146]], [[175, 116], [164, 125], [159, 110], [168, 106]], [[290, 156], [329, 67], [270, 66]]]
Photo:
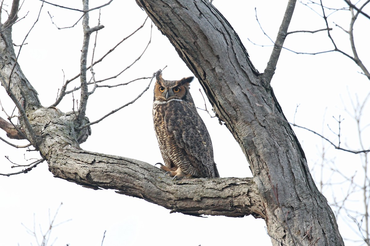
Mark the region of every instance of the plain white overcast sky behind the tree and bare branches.
[[[9, 1], [6, 2], [10, 5]], [[54, 2], [61, 4], [60, 1]], [[91, 7], [100, 4], [101, 1], [90, 1]], [[255, 7], [262, 27], [274, 39], [286, 3], [271, 0], [214, 0], [213, 4], [239, 34], [253, 65], [259, 72], [263, 72], [272, 47], [260, 47], [248, 41], [249, 38], [260, 45], [271, 45], [256, 22]], [[63, 1], [63, 5], [82, 8], [80, 1]], [[41, 1], [24, 2], [19, 17], [28, 14], [13, 27], [15, 44], [19, 45], [23, 41], [37, 18], [40, 6]], [[6, 8], [9, 9], [9, 6]], [[53, 21], [59, 27], [73, 25], [80, 17], [78, 12], [45, 4], [39, 22], [26, 40], [27, 45], [22, 48], [19, 63], [28, 80], [38, 91], [44, 106], [54, 103], [58, 88], [63, 84], [63, 71], [65, 79], [78, 74], [83, 37], [81, 22], [74, 28], [57, 30], [50, 20], [48, 11], [54, 16]], [[97, 24], [97, 14], [98, 11], [90, 13], [90, 27]], [[122, 38], [131, 34], [144, 22], [145, 17], [145, 12], [133, 0], [116, 0], [110, 6], [103, 8], [101, 24], [105, 28], [98, 33], [95, 57], [100, 58]], [[336, 23], [347, 28], [348, 17], [349, 15], [344, 13], [340, 15]], [[6, 15], [2, 15], [2, 20], [5, 19]], [[363, 20], [363, 22], [367, 25], [365, 30], [368, 30], [369, 20]], [[122, 47], [104, 60], [104, 63], [95, 66], [95, 77], [102, 79], [116, 75], [131, 64], [141, 54], [149, 40], [150, 24], [148, 20], [142, 30], [125, 41]], [[302, 4], [297, 4], [289, 31], [322, 28], [325, 28], [324, 22], [316, 13]], [[369, 65], [369, 59], [366, 60], [369, 57], [369, 40], [364, 38], [365, 36], [360, 36], [364, 28], [360, 25], [356, 28], [355, 31], [359, 30], [356, 32], [359, 35], [356, 45], [359, 47], [360, 58], [364, 59], [365, 65]], [[346, 34], [336, 28], [333, 35], [339, 39], [340, 48], [350, 52]], [[90, 43], [94, 43], [93, 39]], [[332, 49], [325, 32], [292, 34], [285, 44], [289, 49], [299, 52], [319, 52]], [[166, 65], [168, 67], [163, 72], [165, 79], [175, 80], [192, 76], [166, 37], [154, 26], [152, 42], [147, 52], [127, 72], [107, 84], [120, 84], [138, 77], [150, 77], [152, 73]], [[359, 68], [355, 63], [339, 53], [310, 56], [296, 55], [284, 50], [277, 64], [272, 87], [289, 121], [293, 121], [296, 105], [299, 104], [295, 117], [296, 123], [317, 132], [323, 132], [333, 141], [337, 139], [330, 132], [327, 124], [336, 131], [337, 124], [333, 116], [342, 115], [346, 118], [341, 125], [343, 145], [347, 143], [348, 148], [357, 149], [359, 145], [356, 141], [356, 126], [344, 108], [351, 110], [350, 97], [355, 98], [357, 95], [361, 101], [370, 91], [369, 80], [358, 72]], [[71, 83], [69, 89], [78, 86], [78, 81]], [[107, 112], [134, 99], [148, 83], [149, 80], [145, 80], [116, 89], [98, 89], [89, 98], [87, 116], [91, 121], [100, 118]], [[199, 88], [201, 86], [198, 81], [192, 82], [191, 92], [195, 104], [204, 108], [202, 96], [198, 92]], [[81, 145], [81, 148], [125, 156], [151, 164], [162, 162], [152, 126], [152, 90], [153, 86], [136, 103], [118, 111], [99, 124], [93, 125], [92, 135], [87, 142]], [[74, 93], [74, 97], [78, 98], [78, 92]], [[14, 104], [7, 97], [3, 87], [0, 88], [0, 99], [4, 109], [8, 114], [11, 113]], [[58, 105], [58, 108], [63, 112], [68, 112], [71, 111], [72, 105], [72, 95], [69, 94]], [[208, 101], [207, 105], [211, 109]], [[367, 114], [364, 115], [363, 121], [369, 122], [369, 107], [365, 112]], [[218, 164], [221, 177], [251, 176], [245, 156], [226, 127], [219, 125], [218, 119], [210, 118], [206, 112], [199, 111], [199, 114], [209, 129], [215, 150], [215, 162]], [[6, 118], [3, 112], [0, 112], [0, 116]], [[305, 150], [307, 162], [313, 169], [313, 177], [316, 181], [319, 181], [320, 169], [315, 164], [321, 162], [323, 146], [327, 149], [326, 157], [332, 161], [332, 166], [349, 175], [355, 173], [356, 170], [361, 173], [359, 156], [335, 151], [328, 144], [323, 145], [320, 138], [307, 131], [297, 128], [293, 130]], [[0, 131], [0, 136], [6, 137], [3, 131]], [[366, 141], [364, 145], [369, 148], [369, 140], [366, 139]], [[19, 145], [26, 143], [14, 140], [11, 142]], [[0, 142], [0, 173], [18, 171], [10, 169], [12, 164], [2, 157], [5, 155], [18, 164], [26, 163], [24, 158], [39, 157], [37, 153], [14, 149]], [[330, 175], [328, 172], [324, 173], [324, 180], [328, 180]], [[344, 186], [325, 187], [323, 193], [331, 202], [333, 197], [340, 199], [345, 194], [345, 189]], [[353, 204], [359, 209], [362, 203], [356, 199]], [[169, 214], [169, 210], [138, 198], [115, 194], [111, 190], [95, 191], [56, 179], [48, 171], [46, 162], [27, 174], [0, 176], [0, 245], [37, 245], [34, 236], [27, 233], [25, 227], [33, 230], [35, 226], [40, 237], [40, 229], [46, 232], [48, 228], [48, 211], [50, 210], [53, 216], [61, 202], [63, 205], [59, 209], [56, 223], [71, 220], [53, 229], [50, 241], [57, 238], [54, 245], [66, 245], [67, 243], [70, 246], [101, 245], [104, 231], [107, 231], [104, 239], [105, 246], [271, 245], [270, 238], [266, 234], [265, 222], [262, 219], [254, 219], [252, 216], [197, 218], [178, 213]], [[359, 239], [346, 227], [343, 219], [340, 218], [338, 223], [344, 238]], [[191, 236], [179, 239], [176, 233], [172, 232], [174, 231], [172, 228], [175, 228], [175, 231], [186, 231]], [[346, 241], [346, 245], [359, 244]]]

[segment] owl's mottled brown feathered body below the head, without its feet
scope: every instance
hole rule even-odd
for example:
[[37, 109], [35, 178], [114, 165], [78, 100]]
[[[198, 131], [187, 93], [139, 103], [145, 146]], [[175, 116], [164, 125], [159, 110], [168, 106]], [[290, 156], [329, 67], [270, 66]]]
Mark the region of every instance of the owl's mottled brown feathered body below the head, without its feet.
[[154, 101], [153, 119], [166, 166], [178, 166], [179, 163], [171, 162], [182, 157], [190, 161], [200, 176], [215, 177], [211, 138], [193, 103], [177, 98]]

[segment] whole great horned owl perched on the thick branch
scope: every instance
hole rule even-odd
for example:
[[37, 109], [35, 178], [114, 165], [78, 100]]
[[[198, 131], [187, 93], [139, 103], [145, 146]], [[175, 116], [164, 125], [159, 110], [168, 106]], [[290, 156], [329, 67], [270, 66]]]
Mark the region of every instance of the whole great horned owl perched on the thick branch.
[[157, 164], [174, 180], [219, 177], [211, 138], [189, 91], [194, 77], [164, 80], [159, 70], [156, 79], [153, 122], [165, 165]]

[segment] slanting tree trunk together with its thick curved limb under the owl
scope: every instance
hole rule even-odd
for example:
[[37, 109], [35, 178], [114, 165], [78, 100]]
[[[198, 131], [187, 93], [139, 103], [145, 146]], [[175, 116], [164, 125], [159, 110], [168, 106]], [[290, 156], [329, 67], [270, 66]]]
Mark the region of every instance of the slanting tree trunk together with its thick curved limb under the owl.
[[42, 107], [16, 63], [9, 27], [0, 32], [1, 84], [20, 111], [21, 129], [54, 176], [89, 188], [115, 189], [174, 212], [262, 217], [273, 245], [343, 245], [333, 212], [313, 183], [271, 87], [260, 82], [229, 23], [205, 0], [137, 2], [200, 80], [254, 178], [172, 183], [147, 163], [82, 150], [78, 143], [90, 130], [76, 130], [81, 122], [74, 112]]

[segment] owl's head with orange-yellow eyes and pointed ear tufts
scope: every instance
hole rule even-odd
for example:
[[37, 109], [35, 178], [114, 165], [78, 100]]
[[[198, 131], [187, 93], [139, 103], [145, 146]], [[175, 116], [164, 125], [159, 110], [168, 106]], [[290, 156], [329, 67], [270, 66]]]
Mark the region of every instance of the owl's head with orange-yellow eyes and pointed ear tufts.
[[[189, 83], [194, 77], [186, 77], [181, 80], [164, 80], [162, 71], [159, 70], [155, 75], [157, 81], [154, 86], [154, 101], [168, 101], [174, 98], [191, 98], [189, 93]], [[190, 99], [192, 101], [192, 99]]]

